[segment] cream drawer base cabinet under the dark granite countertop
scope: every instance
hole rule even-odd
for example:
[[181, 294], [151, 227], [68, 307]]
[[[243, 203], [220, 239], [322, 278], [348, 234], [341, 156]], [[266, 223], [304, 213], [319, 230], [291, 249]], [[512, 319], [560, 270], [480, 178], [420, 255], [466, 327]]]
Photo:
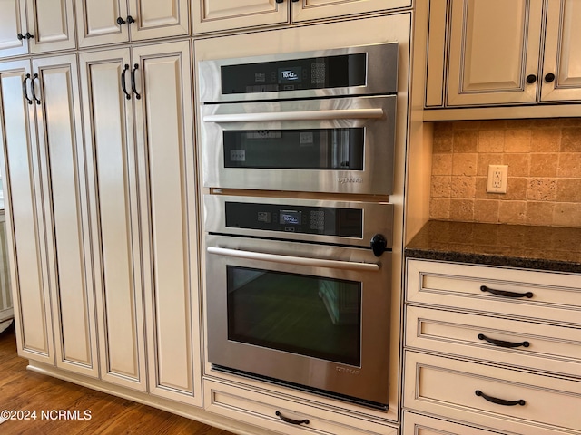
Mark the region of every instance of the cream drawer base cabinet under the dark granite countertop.
[[408, 259], [403, 433], [578, 433], [579, 306], [581, 275]]

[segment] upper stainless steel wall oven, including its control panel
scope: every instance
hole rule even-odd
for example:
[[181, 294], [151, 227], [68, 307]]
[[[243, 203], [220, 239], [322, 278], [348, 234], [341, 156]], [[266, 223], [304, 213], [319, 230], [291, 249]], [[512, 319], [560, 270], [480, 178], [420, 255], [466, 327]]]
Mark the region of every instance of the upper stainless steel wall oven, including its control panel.
[[199, 64], [208, 188], [389, 195], [398, 44]]

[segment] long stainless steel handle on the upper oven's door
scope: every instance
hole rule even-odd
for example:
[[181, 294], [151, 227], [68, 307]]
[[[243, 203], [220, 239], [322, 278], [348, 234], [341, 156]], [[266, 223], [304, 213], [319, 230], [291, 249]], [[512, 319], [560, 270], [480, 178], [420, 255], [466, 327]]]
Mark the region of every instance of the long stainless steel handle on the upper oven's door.
[[269, 111], [258, 113], [223, 113], [205, 115], [204, 122], [262, 122], [262, 121], [318, 121], [360, 120], [383, 118], [383, 109], [335, 109], [329, 111]]

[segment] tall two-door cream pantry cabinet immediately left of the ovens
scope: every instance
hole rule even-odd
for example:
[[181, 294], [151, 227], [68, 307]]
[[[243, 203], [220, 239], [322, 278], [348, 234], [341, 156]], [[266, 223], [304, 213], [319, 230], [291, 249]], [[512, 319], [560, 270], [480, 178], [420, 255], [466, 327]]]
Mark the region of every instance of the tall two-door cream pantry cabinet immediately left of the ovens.
[[80, 59], [102, 378], [199, 404], [190, 50]]

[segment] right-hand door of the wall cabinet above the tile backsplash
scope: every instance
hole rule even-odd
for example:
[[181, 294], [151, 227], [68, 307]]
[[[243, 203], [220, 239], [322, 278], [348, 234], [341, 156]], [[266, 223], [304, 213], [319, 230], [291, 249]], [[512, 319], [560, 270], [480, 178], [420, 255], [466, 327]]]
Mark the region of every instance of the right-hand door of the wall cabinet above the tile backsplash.
[[549, 2], [541, 101], [581, 100], [581, 1]]

